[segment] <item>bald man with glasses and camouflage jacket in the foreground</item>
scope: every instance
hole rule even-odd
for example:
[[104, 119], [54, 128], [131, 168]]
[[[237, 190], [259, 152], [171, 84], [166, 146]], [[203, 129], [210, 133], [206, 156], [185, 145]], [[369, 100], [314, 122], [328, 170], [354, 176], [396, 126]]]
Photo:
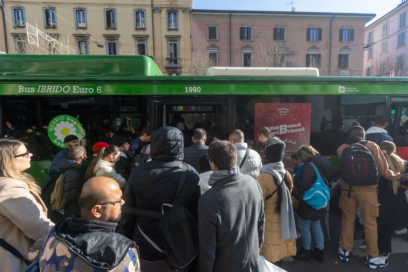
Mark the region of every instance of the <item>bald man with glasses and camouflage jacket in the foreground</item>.
[[112, 178], [85, 182], [79, 197], [80, 214], [65, 218], [31, 247], [29, 261], [38, 259], [40, 271], [140, 272], [135, 242], [115, 232], [124, 204]]

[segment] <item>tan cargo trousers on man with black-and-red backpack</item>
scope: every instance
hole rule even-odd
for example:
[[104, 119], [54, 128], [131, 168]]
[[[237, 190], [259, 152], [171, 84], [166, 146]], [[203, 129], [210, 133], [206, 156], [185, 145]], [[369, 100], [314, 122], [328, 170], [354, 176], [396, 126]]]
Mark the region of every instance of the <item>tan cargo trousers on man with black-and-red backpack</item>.
[[340, 247], [349, 252], [353, 249], [354, 221], [357, 207], [360, 207], [363, 216], [364, 233], [366, 237], [366, 251], [372, 258], [378, 257], [377, 246], [377, 216], [378, 203], [377, 192], [351, 192], [347, 198], [348, 191], [341, 190], [339, 207], [342, 210]]

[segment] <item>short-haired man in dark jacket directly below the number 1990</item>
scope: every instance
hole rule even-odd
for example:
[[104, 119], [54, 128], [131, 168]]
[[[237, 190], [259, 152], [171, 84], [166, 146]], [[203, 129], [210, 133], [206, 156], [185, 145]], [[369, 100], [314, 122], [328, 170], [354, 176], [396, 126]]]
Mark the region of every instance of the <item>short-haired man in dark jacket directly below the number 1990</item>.
[[188, 163], [193, 166], [197, 171], [200, 170], [198, 162], [203, 155], [208, 154], [208, 146], [205, 145], [207, 140], [207, 134], [204, 129], [198, 128], [194, 130], [193, 145], [191, 147], [184, 148], [184, 160], [183, 163]]

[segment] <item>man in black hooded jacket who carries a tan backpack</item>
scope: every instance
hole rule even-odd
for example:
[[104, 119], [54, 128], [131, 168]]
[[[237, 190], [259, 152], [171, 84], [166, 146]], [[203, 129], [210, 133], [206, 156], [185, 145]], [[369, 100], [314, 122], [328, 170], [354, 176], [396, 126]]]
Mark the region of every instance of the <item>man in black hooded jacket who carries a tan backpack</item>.
[[81, 194], [82, 185], [85, 183], [85, 147], [77, 145], [68, 150], [68, 158], [62, 159], [58, 167], [64, 173], [62, 183], [64, 184], [64, 196], [67, 204], [64, 207], [66, 217], [80, 213], [78, 199]]

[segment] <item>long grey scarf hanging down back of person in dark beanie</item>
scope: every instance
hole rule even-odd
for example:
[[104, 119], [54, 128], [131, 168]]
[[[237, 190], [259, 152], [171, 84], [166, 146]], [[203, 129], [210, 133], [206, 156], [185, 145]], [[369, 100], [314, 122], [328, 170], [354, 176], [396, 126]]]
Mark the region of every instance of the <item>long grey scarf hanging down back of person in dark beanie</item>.
[[268, 173], [274, 176], [282, 187], [281, 203], [281, 237], [282, 240], [296, 239], [295, 216], [293, 215], [292, 201], [288, 187], [283, 181], [282, 176], [286, 174], [283, 163], [268, 163], [261, 168], [261, 173]]

